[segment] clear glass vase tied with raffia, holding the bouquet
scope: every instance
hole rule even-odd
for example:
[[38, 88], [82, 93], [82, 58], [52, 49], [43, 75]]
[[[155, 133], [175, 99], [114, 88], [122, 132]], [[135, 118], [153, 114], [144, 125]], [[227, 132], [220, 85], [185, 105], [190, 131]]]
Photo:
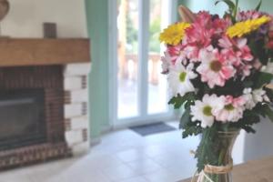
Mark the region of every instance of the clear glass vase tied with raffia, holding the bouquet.
[[238, 134], [238, 130], [217, 132], [213, 146], [217, 165], [206, 165], [197, 182], [232, 182], [232, 149]]

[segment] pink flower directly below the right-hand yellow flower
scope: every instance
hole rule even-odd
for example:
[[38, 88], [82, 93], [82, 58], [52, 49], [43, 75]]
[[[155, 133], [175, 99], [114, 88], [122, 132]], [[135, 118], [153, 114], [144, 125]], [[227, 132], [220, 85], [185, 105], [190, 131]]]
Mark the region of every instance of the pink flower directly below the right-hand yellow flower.
[[218, 45], [223, 48], [221, 53], [225, 55], [234, 66], [243, 65], [244, 61], [252, 61], [254, 58], [247, 45], [247, 38], [238, 38], [234, 40], [227, 37], [227, 35], [224, 35], [218, 42]]

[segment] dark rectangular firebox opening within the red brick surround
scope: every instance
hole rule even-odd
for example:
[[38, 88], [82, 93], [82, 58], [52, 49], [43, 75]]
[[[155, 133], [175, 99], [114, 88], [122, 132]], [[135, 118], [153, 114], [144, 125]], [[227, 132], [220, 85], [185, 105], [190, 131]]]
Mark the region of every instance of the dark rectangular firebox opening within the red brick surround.
[[0, 91], [0, 150], [46, 142], [45, 91]]

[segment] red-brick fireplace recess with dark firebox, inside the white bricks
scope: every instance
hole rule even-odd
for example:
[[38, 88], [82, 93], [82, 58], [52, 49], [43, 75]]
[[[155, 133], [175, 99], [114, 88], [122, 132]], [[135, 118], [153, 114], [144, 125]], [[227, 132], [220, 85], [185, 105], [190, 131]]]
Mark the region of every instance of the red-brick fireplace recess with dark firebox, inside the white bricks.
[[0, 170], [70, 156], [63, 66], [0, 67]]

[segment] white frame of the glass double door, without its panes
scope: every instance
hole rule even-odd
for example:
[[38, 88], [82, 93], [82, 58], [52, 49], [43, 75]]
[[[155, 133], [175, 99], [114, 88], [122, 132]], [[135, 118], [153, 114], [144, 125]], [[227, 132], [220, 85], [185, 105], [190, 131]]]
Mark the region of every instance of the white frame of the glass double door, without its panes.
[[[166, 1], [166, 0], [165, 0]], [[171, 15], [169, 19], [171, 22], [177, 21], [177, 0], [168, 0], [171, 2]], [[149, 28], [149, 6], [150, 0], [138, 0], [139, 3], [139, 21], [143, 24], [139, 25], [140, 30], [138, 32], [138, 52], [139, 60], [148, 59], [148, 28]], [[137, 106], [139, 116], [127, 117], [118, 119], [118, 61], [117, 61], [117, 0], [108, 0], [108, 61], [109, 61], [109, 123], [112, 129], [125, 128], [127, 126], [138, 126], [144, 124], [156, 123], [158, 121], [167, 121], [176, 119], [174, 112], [169, 109], [169, 112], [162, 114], [148, 115], [147, 113], [147, 96], [148, 96], [148, 64], [145, 61], [138, 62], [138, 94], [137, 94]], [[141, 98], [140, 98], [141, 96]]]

